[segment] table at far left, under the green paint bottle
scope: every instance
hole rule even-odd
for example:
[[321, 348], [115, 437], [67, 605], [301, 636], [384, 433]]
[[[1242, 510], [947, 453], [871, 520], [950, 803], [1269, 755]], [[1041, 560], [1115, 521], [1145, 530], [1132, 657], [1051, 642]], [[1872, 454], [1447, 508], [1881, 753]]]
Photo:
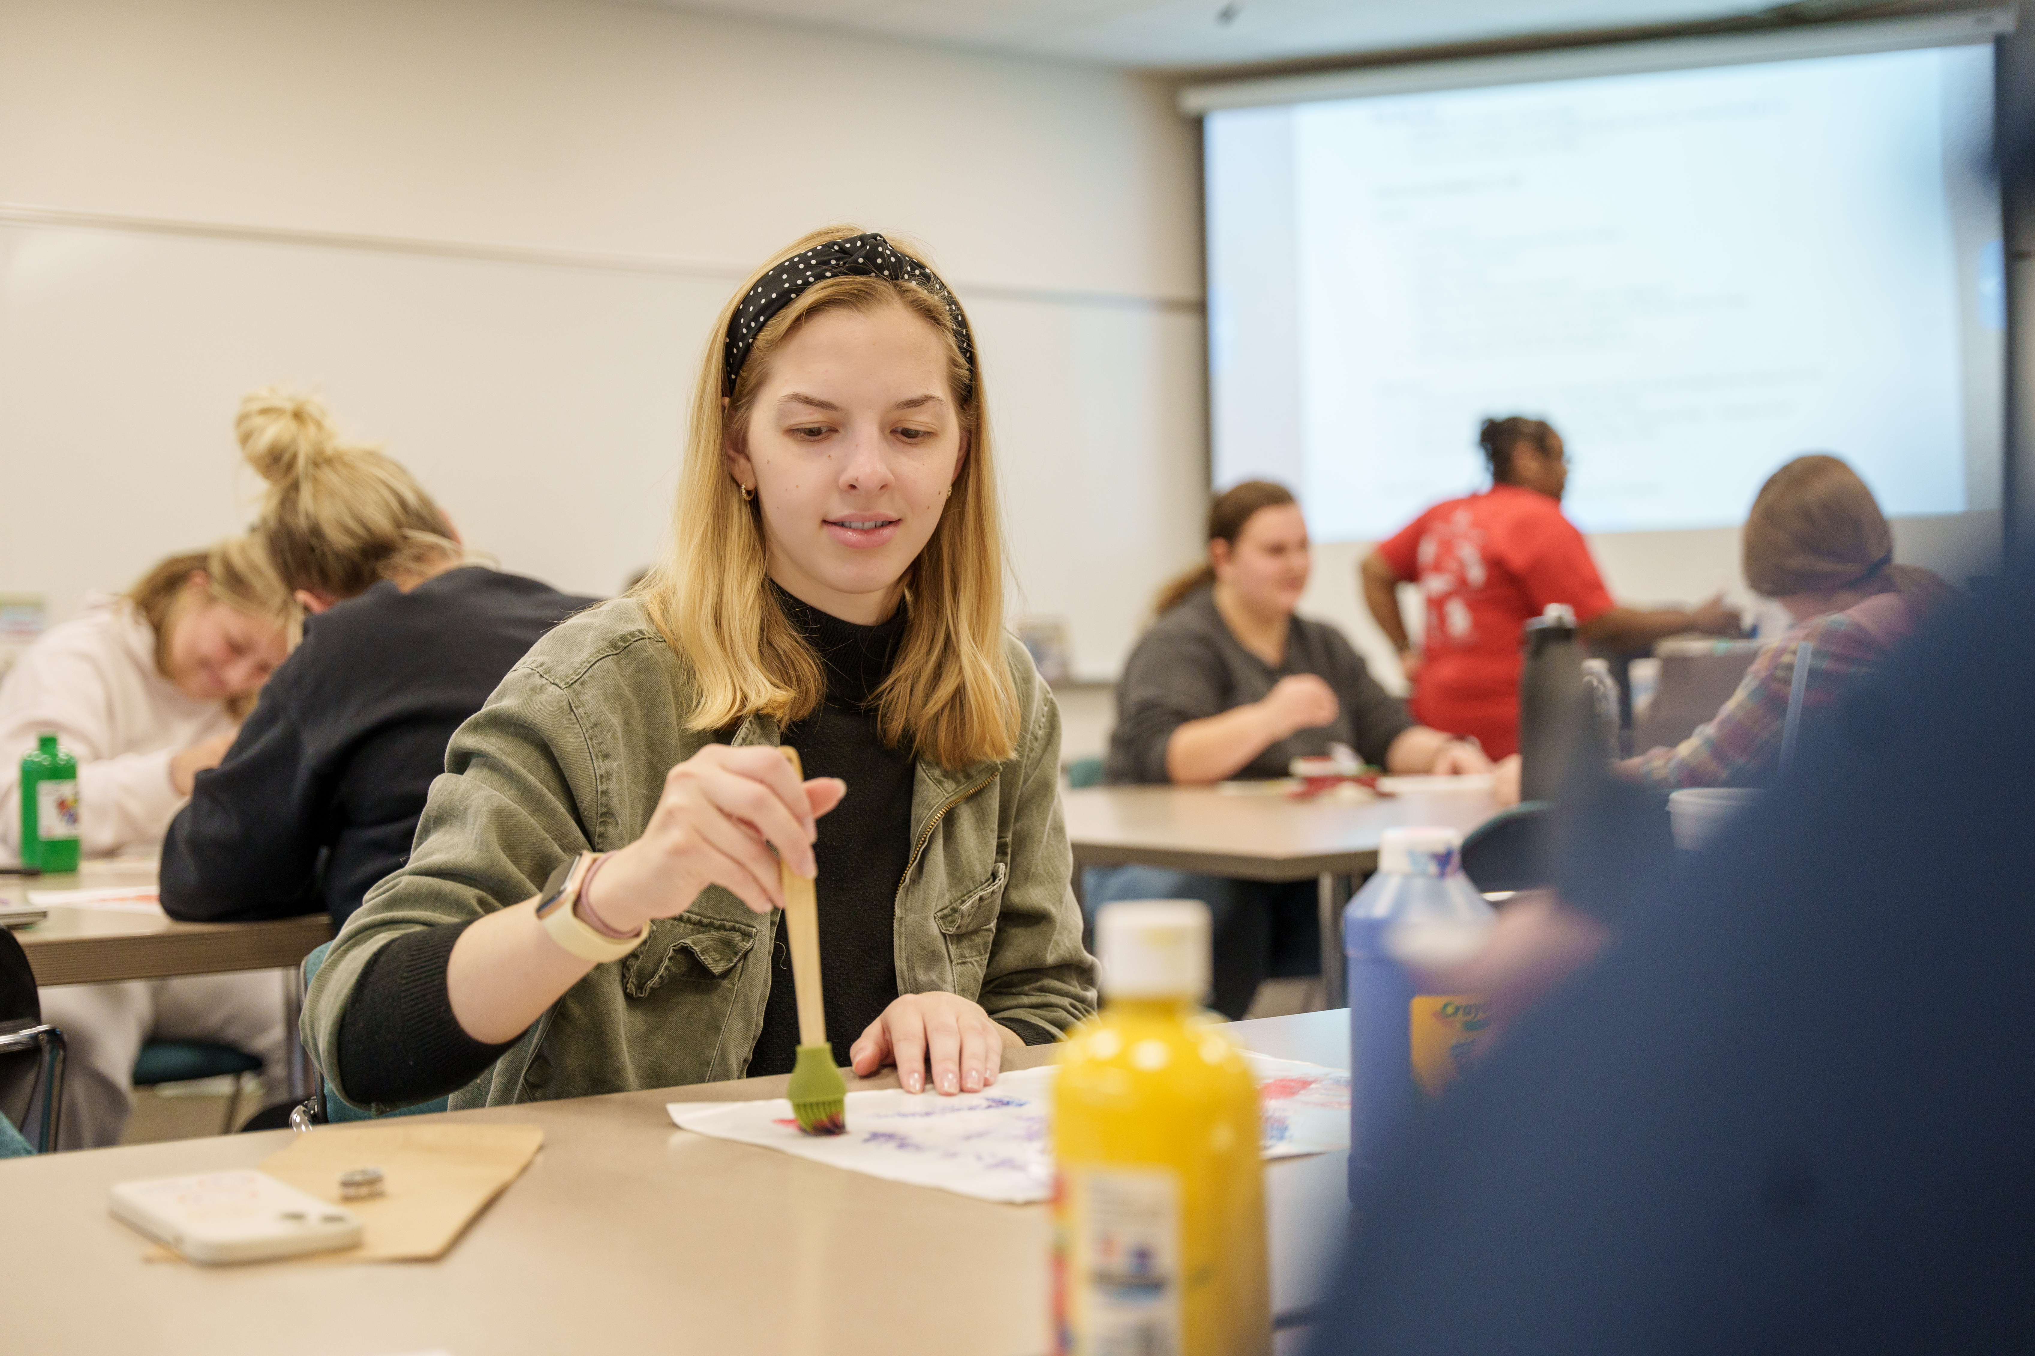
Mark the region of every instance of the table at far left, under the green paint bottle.
[[[61, 876], [0, 876], [0, 899], [26, 903], [28, 890], [155, 888], [153, 860], [83, 862]], [[289, 1035], [289, 1094], [309, 1096], [309, 1063], [297, 1041], [301, 1002], [297, 964], [332, 939], [324, 911], [260, 923], [179, 923], [167, 913], [128, 913], [51, 905], [41, 923], [14, 929], [28, 956], [35, 982], [116, 984], [122, 980], [173, 980], [187, 974], [232, 970], [287, 970], [283, 984]]]

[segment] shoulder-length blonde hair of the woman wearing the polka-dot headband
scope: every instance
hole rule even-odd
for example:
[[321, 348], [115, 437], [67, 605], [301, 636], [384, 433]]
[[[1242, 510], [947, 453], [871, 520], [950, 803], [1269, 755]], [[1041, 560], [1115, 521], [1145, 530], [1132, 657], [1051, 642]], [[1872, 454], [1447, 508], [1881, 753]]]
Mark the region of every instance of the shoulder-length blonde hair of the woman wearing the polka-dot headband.
[[[981, 366], [954, 342], [946, 301], [916, 283], [877, 276], [814, 283], [763, 325], [735, 392], [726, 400], [720, 396], [726, 390], [722, 340], [757, 279], [816, 244], [859, 234], [855, 226], [832, 226], [794, 240], [720, 309], [692, 398], [672, 547], [633, 594], [692, 669], [698, 701], [688, 728], [724, 730], [747, 716], [790, 724], [820, 705], [826, 671], [769, 590], [763, 508], [743, 498], [726, 453], [743, 447], [771, 354], [800, 325], [824, 311], [867, 315], [902, 305], [922, 317], [946, 350], [963, 461], [932, 539], [904, 573], [908, 620], [897, 661], [875, 693], [877, 732], [885, 744], [910, 748], [944, 768], [1003, 760], [1018, 744], [1018, 693], [1003, 651], [995, 459]], [[916, 250], [895, 240], [891, 248], [918, 260]]]

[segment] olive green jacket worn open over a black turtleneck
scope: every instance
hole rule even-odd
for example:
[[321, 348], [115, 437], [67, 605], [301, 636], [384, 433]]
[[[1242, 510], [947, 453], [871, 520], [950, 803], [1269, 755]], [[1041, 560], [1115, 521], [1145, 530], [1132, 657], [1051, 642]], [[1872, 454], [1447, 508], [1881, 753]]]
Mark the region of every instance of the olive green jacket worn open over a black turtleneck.
[[[897, 992], [948, 990], [1034, 1041], [1095, 1010], [1072, 856], [1060, 819], [1060, 710], [1015, 640], [1018, 756], [948, 771], [920, 762], [912, 856], [897, 882]], [[409, 862], [368, 890], [332, 941], [303, 1041], [346, 1092], [340, 1016], [370, 956], [417, 927], [537, 895], [584, 850], [633, 844], [665, 773], [712, 742], [684, 728], [692, 673], [633, 600], [582, 612], [509, 671], [452, 736]], [[735, 744], [775, 744], [753, 716]], [[826, 880], [820, 880], [826, 907]], [[619, 962], [594, 966], [454, 1106], [741, 1077], [763, 1027], [781, 913], [710, 886]], [[376, 1108], [385, 1110], [385, 1108]]]

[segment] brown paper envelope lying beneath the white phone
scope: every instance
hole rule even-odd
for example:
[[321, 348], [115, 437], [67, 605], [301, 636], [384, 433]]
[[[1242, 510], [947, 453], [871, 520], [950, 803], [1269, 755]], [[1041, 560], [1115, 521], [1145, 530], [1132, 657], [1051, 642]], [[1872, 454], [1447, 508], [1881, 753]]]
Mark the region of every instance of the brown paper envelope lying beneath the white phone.
[[[326, 1201], [340, 1201], [340, 1173], [379, 1167], [387, 1193], [346, 1208], [360, 1216], [358, 1248], [336, 1262], [444, 1256], [446, 1248], [537, 1155], [539, 1126], [376, 1122], [319, 1126], [291, 1138], [260, 1169]], [[303, 1258], [317, 1260], [317, 1258]]]

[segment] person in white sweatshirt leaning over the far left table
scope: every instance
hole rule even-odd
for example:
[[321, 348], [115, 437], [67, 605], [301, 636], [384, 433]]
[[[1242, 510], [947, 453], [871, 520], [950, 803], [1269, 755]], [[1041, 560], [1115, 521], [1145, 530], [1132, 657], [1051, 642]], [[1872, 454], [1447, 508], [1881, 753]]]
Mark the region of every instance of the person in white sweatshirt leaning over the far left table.
[[[289, 653], [293, 608], [267, 551], [240, 537], [163, 561], [124, 596], [90, 596], [28, 646], [0, 681], [0, 860], [20, 860], [20, 758], [49, 732], [77, 756], [83, 854], [153, 852]], [[63, 1149], [118, 1143], [151, 1037], [283, 1067], [275, 972], [45, 988], [43, 1019], [69, 1045]]]

